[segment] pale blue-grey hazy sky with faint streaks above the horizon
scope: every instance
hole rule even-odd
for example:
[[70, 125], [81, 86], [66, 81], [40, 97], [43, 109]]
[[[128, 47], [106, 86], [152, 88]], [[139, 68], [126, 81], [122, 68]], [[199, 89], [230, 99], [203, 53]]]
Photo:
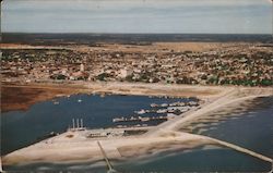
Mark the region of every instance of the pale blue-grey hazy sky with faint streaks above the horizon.
[[3, 0], [5, 33], [272, 34], [271, 0]]

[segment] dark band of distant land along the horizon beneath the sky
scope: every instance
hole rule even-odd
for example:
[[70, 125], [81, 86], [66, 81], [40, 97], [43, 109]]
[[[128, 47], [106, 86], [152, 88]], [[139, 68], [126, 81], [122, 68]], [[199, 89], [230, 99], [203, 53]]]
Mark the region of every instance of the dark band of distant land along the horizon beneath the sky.
[[272, 44], [272, 35], [251, 34], [24, 34], [3, 33], [3, 44], [72, 46], [97, 44], [151, 45], [152, 42], [263, 42]]

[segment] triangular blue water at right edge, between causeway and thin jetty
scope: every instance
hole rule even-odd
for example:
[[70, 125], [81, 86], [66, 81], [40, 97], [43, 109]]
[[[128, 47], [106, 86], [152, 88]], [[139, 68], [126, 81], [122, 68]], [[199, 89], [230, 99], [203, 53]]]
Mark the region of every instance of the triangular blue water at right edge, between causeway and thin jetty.
[[[221, 113], [219, 110], [207, 116], [213, 120], [214, 115]], [[246, 110], [238, 106], [228, 116], [216, 124], [209, 119], [201, 127], [204, 132], [198, 133], [198, 127], [193, 127], [192, 133], [229, 141], [273, 158], [273, 97], [257, 98]], [[195, 126], [199, 124], [193, 123]]]

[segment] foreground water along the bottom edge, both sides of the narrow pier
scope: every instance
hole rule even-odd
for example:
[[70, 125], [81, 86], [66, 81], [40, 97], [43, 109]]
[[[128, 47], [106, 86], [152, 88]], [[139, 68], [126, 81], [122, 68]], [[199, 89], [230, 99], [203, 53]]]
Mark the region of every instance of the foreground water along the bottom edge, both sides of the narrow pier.
[[[261, 161], [226, 148], [194, 148], [188, 151], [165, 152], [147, 159], [116, 161], [111, 160], [114, 169], [127, 172], [268, 172], [270, 163]], [[98, 165], [86, 163], [51, 164], [37, 163], [19, 166], [7, 166], [13, 171], [67, 171], [67, 172], [98, 172], [106, 173], [107, 168], [102, 160]]]

